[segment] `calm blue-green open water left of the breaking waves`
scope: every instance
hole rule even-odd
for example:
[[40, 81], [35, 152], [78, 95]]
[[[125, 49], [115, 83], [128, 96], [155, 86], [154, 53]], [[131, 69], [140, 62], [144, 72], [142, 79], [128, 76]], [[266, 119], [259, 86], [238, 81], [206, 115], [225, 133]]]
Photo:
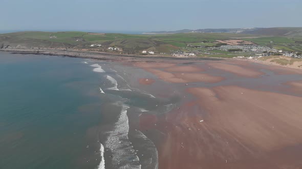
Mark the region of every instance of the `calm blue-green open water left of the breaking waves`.
[[102, 120], [98, 74], [82, 62], [0, 52], [0, 168], [99, 163], [82, 162]]

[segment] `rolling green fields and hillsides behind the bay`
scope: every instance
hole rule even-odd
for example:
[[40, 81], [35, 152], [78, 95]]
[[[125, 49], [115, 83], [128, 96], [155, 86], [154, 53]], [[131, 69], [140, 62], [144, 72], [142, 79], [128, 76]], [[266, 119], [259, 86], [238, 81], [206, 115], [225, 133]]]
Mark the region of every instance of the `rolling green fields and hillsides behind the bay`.
[[[167, 35], [128, 35], [128, 34], [92, 34], [87, 32], [17, 32], [0, 34], [0, 42], [11, 46], [73, 48], [108, 51], [108, 47], [121, 48], [124, 53], [141, 53], [142, 50], [153, 50], [159, 53], [175, 51], [195, 52], [198, 55], [210, 53], [211, 57], [235, 57], [252, 55], [225, 50], [210, 50], [217, 40], [245, 40], [257, 45], [269, 46], [284, 51], [302, 51], [301, 36], [255, 36], [229, 33], [181, 33]], [[92, 48], [91, 44], [101, 44]], [[0, 44], [1, 45], [1, 44]], [[198, 48], [197, 48], [198, 47]]]

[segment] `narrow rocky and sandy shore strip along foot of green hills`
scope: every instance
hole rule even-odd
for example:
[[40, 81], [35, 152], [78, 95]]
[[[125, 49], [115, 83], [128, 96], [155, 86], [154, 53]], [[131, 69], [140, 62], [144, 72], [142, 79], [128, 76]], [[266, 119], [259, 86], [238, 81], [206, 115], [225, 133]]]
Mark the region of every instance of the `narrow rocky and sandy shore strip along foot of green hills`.
[[[41, 48], [41, 49], [30, 49], [30, 48], [9, 48], [0, 49], [0, 51], [10, 52], [12, 54], [41, 54], [41, 55], [54, 55], [70, 58], [82, 58], [82, 59], [94, 59], [98, 61], [107, 62], [156, 62], [159, 60], [175, 60], [175, 61], [234, 61], [234, 62], [248, 62], [256, 63], [265, 66], [275, 67], [274, 69], [292, 69], [293, 71], [302, 70], [302, 67], [294, 67], [292, 65], [279, 65], [272, 62], [261, 61], [257, 59], [238, 59], [238, 58], [216, 58], [216, 57], [172, 57], [164, 55], [140, 55], [140, 54], [121, 54], [113, 52], [100, 52], [100, 51], [83, 51], [74, 49], [53, 49], [53, 48]], [[156, 59], [154, 61], [153, 59]], [[302, 61], [302, 59], [301, 59]]]

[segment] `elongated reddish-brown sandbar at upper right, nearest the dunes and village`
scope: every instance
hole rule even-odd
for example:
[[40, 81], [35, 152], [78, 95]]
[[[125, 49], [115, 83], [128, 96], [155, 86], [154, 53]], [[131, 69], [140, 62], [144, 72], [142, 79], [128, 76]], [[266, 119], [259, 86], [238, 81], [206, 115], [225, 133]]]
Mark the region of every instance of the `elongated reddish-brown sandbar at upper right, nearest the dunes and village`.
[[235, 74], [238, 74], [241, 76], [247, 76], [247, 77], [257, 77], [257, 76], [260, 76], [263, 74], [256, 70], [244, 68], [244, 67], [237, 66], [237, 65], [230, 65], [228, 63], [208, 63], [208, 65], [215, 69], [221, 69], [221, 70], [224, 70], [227, 72], [231, 72], [231, 73], [235, 73]]

